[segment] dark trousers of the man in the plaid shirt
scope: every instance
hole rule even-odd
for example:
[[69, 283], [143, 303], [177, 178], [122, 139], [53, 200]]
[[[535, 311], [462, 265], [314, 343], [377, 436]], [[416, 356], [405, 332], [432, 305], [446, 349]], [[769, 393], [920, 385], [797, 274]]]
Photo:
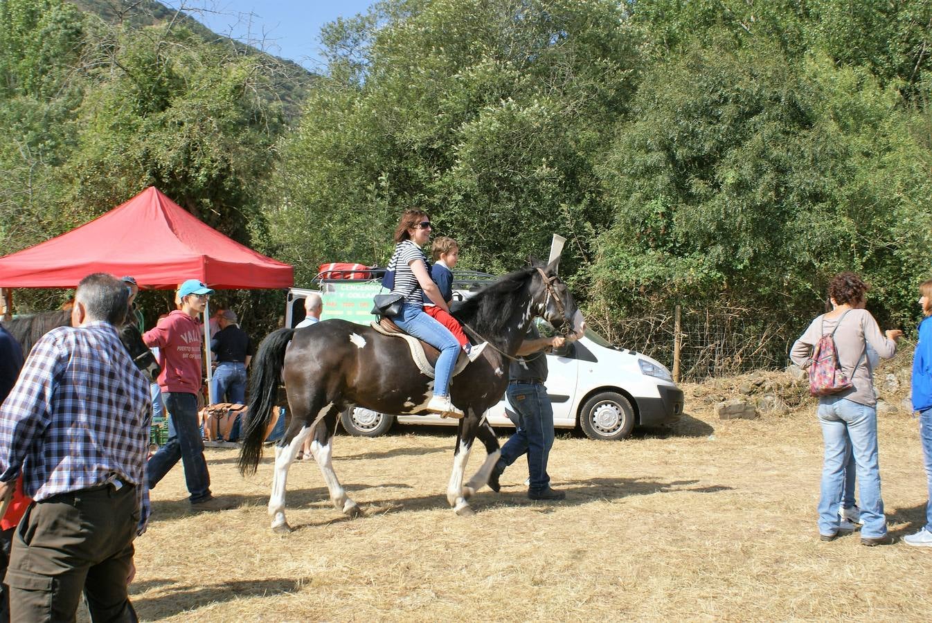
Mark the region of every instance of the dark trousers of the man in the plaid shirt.
[[11, 621], [136, 621], [127, 578], [139, 522], [135, 487], [53, 495], [26, 511], [7, 568]]

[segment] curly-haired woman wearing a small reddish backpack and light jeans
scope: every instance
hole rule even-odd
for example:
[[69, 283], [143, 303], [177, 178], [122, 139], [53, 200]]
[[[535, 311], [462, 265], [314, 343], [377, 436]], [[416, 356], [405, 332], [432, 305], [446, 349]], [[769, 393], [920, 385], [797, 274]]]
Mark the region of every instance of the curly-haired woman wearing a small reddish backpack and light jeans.
[[857, 464], [861, 493], [861, 544], [888, 545], [884, 500], [877, 458], [877, 398], [867, 350], [882, 359], [897, 353], [899, 330], [882, 333], [863, 308], [868, 285], [854, 273], [840, 273], [829, 282], [832, 311], [812, 321], [790, 350], [789, 357], [809, 369], [810, 392], [818, 396], [818, 420], [825, 443], [818, 531], [823, 541], [839, 535], [847, 445]]

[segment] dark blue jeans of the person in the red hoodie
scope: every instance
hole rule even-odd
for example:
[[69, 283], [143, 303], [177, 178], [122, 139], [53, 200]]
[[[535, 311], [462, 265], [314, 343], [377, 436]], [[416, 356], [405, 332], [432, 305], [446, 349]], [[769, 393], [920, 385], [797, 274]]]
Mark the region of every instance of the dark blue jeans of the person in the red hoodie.
[[169, 440], [145, 465], [145, 480], [155, 489], [171, 467], [181, 459], [190, 501], [198, 503], [211, 496], [211, 476], [204, 459], [204, 440], [198, 427], [198, 398], [183, 392], [164, 392], [162, 399], [171, 413]]

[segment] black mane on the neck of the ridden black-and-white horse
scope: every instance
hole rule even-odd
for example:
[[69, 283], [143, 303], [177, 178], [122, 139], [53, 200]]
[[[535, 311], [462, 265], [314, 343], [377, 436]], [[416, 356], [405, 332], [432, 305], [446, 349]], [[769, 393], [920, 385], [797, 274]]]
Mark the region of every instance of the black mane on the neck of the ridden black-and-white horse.
[[498, 278], [464, 301], [453, 316], [487, 335], [504, 332], [514, 313], [527, 305], [524, 297], [518, 294], [528, 290], [536, 271], [536, 266], [529, 266]]

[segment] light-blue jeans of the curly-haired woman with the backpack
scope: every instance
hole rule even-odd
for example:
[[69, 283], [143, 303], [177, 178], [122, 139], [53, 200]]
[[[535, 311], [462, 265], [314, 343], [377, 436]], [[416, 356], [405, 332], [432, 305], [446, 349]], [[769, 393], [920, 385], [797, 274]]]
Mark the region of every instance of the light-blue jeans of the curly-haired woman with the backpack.
[[838, 532], [838, 506], [843, 497], [844, 467], [848, 461], [850, 439], [861, 491], [861, 536], [876, 538], [886, 535], [877, 458], [877, 409], [843, 398], [823, 398], [819, 400], [818, 420], [825, 442], [818, 502], [819, 533], [834, 535]]

